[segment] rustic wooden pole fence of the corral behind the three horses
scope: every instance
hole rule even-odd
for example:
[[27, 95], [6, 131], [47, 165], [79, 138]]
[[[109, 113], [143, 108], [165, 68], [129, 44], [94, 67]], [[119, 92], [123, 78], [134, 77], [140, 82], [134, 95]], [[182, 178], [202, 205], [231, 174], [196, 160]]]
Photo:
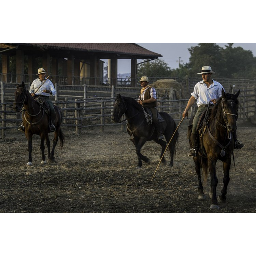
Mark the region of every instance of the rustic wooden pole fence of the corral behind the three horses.
[[[255, 89], [241, 90], [239, 100], [239, 119], [242, 118], [245, 121], [250, 115], [255, 115]], [[68, 99], [66, 97], [64, 100], [56, 100], [54, 104], [58, 105], [63, 112], [62, 126], [73, 127], [75, 133], [79, 134], [81, 129], [89, 127], [100, 127], [100, 131], [103, 132], [106, 126], [120, 125], [121, 129], [124, 130], [126, 122], [116, 124], [111, 120], [114, 101], [114, 97], [93, 97], [85, 99]], [[188, 99], [174, 100], [168, 96], [162, 97], [158, 99], [158, 110], [169, 113], [174, 120], [178, 121], [182, 118], [187, 101]], [[12, 105], [12, 102], [0, 103], [0, 130], [2, 130], [2, 139], [6, 136], [6, 130], [17, 129], [22, 122], [21, 113], [14, 112]], [[196, 105], [193, 105], [190, 110], [190, 117], [194, 115], [196, 109]]]

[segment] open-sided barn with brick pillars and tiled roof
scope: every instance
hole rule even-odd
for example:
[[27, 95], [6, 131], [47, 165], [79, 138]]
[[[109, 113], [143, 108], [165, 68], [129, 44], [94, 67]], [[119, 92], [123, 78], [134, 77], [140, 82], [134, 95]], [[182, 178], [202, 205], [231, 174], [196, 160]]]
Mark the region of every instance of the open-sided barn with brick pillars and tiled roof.
[[[31, 83], [38, 68], [44, 67], [53, 83], [99, 85], [105, 82], [102, 60], [106, 59], [108, 81], [115, 85], [118, 59], [130, 59], [131, 86], [137, 82], [138, 59], [162, 57], [135, 43], [0, 43], [0, 54], [3, 82]], [[15, 76], [10, 73], [10, 60], [13, 63], [14, 59]]]

